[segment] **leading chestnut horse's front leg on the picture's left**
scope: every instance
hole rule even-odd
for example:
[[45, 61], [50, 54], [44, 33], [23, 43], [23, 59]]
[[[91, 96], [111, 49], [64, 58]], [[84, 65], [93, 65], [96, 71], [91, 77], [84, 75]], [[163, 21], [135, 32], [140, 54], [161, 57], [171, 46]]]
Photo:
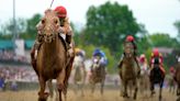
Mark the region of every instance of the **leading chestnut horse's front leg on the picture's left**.
[[38, 91], [38, 101], [46, 101], [48, 93], [45, 93], [46, 81], [43, 77], [38, 78], [41, 89]]

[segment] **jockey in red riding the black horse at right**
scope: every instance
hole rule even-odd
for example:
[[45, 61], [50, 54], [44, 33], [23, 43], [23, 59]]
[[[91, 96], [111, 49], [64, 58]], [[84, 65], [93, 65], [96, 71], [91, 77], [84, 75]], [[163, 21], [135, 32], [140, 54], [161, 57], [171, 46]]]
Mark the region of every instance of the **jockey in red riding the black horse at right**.
[[[158, 60], [156, 58], [158, 58]], [[156, 63], [159, 63], [160, 70], [165, 74], [162, 55], [159, 53], [158, 48], [155, 48], [151, 53], [150, 65], [149, 65], [151, 69], [154, 67], [154, 64]]]

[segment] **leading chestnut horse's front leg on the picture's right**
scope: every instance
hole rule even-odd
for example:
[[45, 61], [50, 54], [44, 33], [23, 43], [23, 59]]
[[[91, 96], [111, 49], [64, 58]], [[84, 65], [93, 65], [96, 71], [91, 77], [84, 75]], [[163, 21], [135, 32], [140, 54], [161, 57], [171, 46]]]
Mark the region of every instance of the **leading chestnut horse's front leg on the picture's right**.
[[[66, 88], [65, 88], [65, 85], [64, 85], [65, 75], [66, 75], [65, 68], [63, 68], [60, 74], [57, 77], [57, 89], [59, 91], [59, 101], [61, 101], [61, 91], [66, 91]], [[66, 93], [64, 93], [64, 94], [66, 94]]]

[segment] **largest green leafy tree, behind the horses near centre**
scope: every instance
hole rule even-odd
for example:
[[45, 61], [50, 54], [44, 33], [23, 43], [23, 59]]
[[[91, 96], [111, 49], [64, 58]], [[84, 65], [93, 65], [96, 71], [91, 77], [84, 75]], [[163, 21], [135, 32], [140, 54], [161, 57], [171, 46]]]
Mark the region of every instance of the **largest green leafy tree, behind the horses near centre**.
[[127, 5], [109, 1], [100, 7], [89, 8], [86, 25], [82, 35], [86, 45], [105, 46], [114, 53], [120, 52], [126, 35], [136, 37], [137, 32], [140, 31]]

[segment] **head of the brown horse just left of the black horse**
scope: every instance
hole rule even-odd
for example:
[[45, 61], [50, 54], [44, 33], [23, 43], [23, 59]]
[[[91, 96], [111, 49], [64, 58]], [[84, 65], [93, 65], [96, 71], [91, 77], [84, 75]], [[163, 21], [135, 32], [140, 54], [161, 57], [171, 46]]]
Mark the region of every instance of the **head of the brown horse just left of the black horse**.
[[132, 58], [134, 56], [134, 47], [131, 42], [124, 43], [124, 53], [126, 58]]

